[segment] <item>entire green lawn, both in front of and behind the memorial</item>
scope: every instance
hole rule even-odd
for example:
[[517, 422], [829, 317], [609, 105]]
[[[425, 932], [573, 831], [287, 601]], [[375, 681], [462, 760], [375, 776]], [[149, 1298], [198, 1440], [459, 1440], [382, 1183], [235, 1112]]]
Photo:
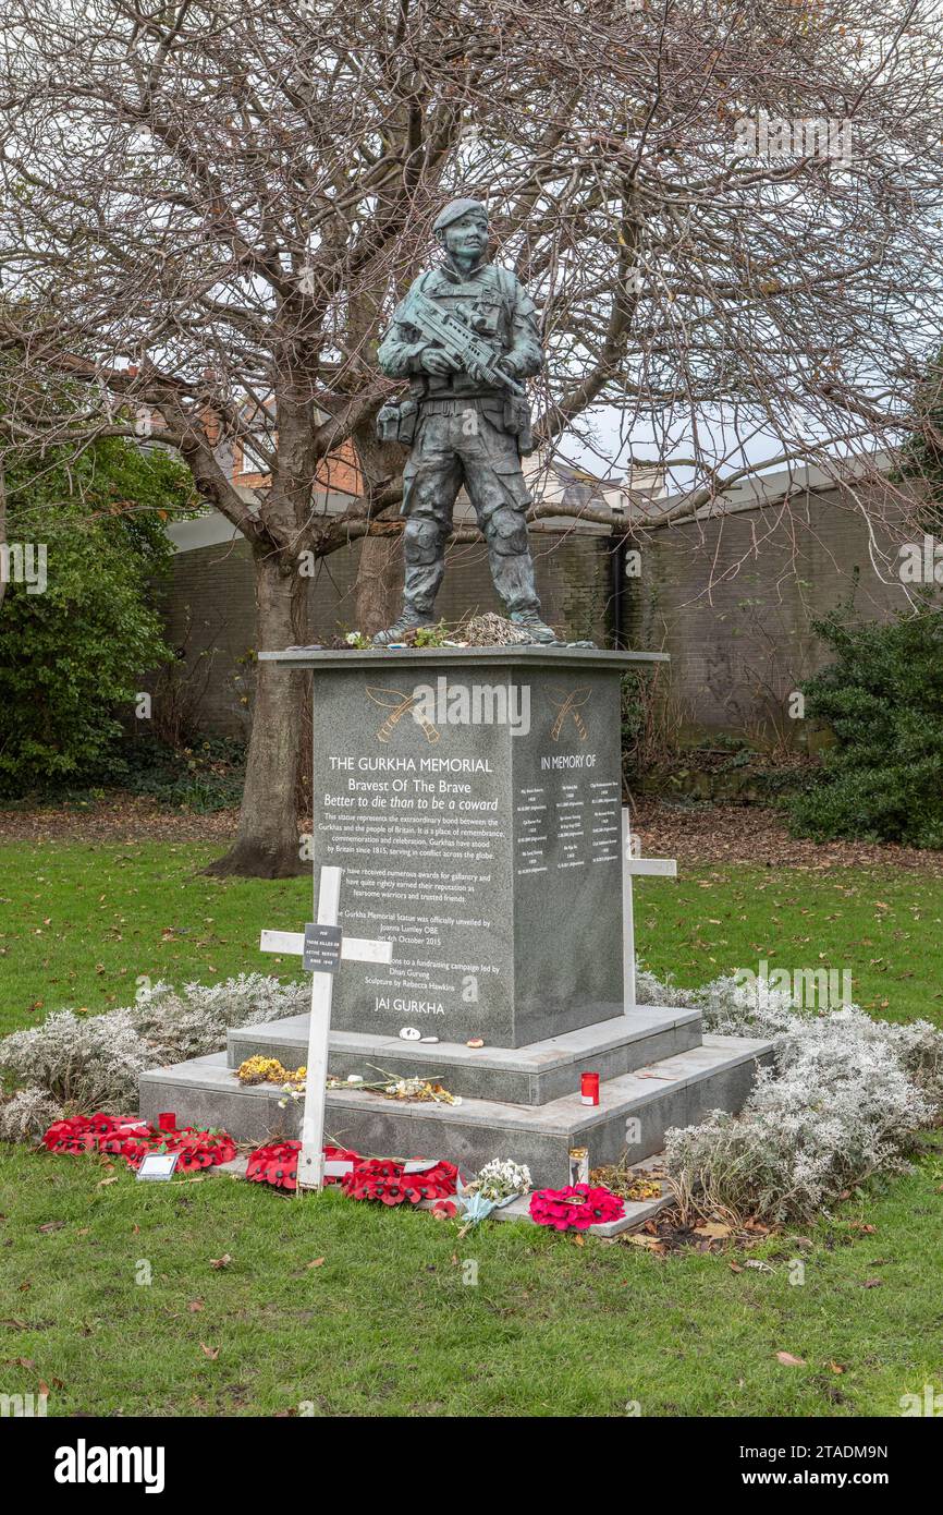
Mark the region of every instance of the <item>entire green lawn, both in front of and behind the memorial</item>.
[[[206, 879], [209, 856], [0, 848], [3, 1029], [126, 1003], [144, 976], [271, 968], [259, 930], [303, 924], [310, 882]], [[876, 1014], [937, 1023], [941, 920], [943, 882], [890, 868], [701, 870], [642, 880], [636, 912], [643, 956], [683, 983], [763, 957], [851, 968]], [[42, 1380], [51, 1415], [854, 1417], [943, 1386], [938, 1147], [805, 1238], [739, 1256], [515, 1224], [459, 1241], [453, 1223], [336, 1194], [151, 1188], [24, 1148], [0, 1156], [0, 1392]]]

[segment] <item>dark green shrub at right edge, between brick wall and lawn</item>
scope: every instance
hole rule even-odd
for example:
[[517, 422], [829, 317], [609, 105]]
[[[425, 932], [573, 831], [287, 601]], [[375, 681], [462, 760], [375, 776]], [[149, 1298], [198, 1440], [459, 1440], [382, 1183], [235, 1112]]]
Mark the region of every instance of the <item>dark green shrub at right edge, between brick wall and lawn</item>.
[[804, 685], [805, 717], [831, 729], [816, 780], [790, 806], [816, 841], [943, 847], [943, 611], [889, 624], [817, 621], [834, 661]]

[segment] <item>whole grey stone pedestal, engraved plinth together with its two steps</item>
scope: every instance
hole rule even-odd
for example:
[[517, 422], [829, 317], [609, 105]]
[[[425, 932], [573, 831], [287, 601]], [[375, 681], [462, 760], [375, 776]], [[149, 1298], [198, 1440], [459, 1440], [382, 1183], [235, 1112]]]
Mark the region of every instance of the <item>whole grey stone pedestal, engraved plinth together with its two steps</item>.
[[[625, 1012], [621, 676], [652, 654], [260, 656], [313, 671], [315, 873], [344, 870], [350, 936], [392, 944], [392, 962], [335, 976], [328, 1071], [418, 1074], [460, 1100], [330, 1089], [328, 1142], [447, 1157], [468, 1177], [513, 1157], [560, 1186], [574, 1148], [590, 1167], [637, 1162], [669, 1126], [740, 1107], [769, 1042], [702, 1036], [693, 1011]], [[141, 1114], [297, 1136], [301, 1106], [236, 1070], [256, 1053], [304, 1064], [307, 1021], [233, 1030], [226, 1053], [144, 1074]], [[581, 1103], [581, 1073], [599, 1074], [598, 1106]]]

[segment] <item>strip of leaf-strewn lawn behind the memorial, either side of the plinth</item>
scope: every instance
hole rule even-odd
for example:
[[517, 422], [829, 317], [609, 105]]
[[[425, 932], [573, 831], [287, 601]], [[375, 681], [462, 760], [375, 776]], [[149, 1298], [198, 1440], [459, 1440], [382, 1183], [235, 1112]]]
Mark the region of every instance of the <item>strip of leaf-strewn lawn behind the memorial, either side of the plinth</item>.
[[[219, 844], [0, 845], [0, 1035], [50, 1011], [127, 1004], [138, 979], [297, 976], [259, 951], [300, 930], [310, 879], [212, 879]], [[636, 938], [658, 974], [837, 968], [857, 1003], [943, 1024], [943, 879], [907, 870], [702, 868], [636, 882]]]

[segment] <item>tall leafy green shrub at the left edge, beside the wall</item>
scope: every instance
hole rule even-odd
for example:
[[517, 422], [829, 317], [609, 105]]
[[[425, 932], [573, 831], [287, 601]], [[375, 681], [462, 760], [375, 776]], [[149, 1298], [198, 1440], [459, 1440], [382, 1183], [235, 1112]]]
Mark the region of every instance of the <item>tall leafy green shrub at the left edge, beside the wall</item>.
[[8, 468], [8, 541], [45, 545], [47, 585], [11, 579], [0, 608], [2, 795], [110, 764], [120, 708], [173, 656], [150, 583], [173, 553], [163, 521], [192, 504], [188, 480], [120, 438]]

